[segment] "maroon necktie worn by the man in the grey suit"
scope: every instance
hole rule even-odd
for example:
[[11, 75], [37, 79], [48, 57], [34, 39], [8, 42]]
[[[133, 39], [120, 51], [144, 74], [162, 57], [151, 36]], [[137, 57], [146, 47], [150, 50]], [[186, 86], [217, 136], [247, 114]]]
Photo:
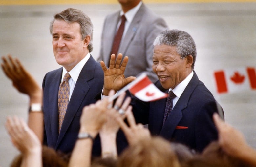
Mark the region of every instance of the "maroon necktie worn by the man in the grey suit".
[[[115, 54], [116, 56], [117, 56], [117, 51], [118, 51], [118, 48], [119, 48], [119, 45], [120, 45], [120, 42], [121, 42], [121, 39], [123, 36], [124, 25], [125, 25], [125, 21], [126, 21], [126, 18], [124, 15], [121, 16], [121, 20], [122, 20], [122, 22], [121, 22], [119, 29], [115, 35], [113, 45], [112, 45], [112, 50], [111, 50], [111, 54]], [[110, 54], [110, 56], [111, 56], [111, 54]]]

